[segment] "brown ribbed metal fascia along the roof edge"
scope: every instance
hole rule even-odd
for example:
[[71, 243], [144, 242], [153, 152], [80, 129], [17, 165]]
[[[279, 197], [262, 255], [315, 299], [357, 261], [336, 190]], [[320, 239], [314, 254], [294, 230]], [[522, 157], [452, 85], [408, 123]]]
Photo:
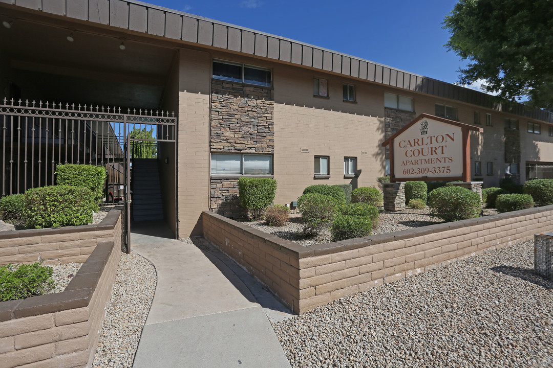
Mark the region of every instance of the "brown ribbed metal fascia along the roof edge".
[[[13, 6], [12, 1], [0, 0], [0, 6]], [[197, 44], [202, 47], [239, 52], [243, 55], [272, 58], [293, 65], [321, 69], [351, 78], [360, 78], [386, 86], [430, 94], [553, 123], [553, 113], [550, 111], [540, 109], [526, 111], [525, 105], [516, 102], [498, 104], [492, 95], [457, 86], [456, 84], [441, 82], [437, 79], [427, 78], [323, 47], [153, 4], [134, 0], [111, 0], [103, 3], [91, 0], [69, 2], [66, 0], [50, 0], [47, 3], [15, 0], [14, 5], [19, 8], [57, 15], [58, 17], [85, 20], [89, 23], [135, 31], [157, 37], [158, 40], [161, 37]], [[40, 8], [41, 6], [42, 8]], [[240, 47], [236, 45], [238, 36], [242, 39]], [[275, 44], [278, 44], [278, 46]], [[274, 52], [275, 46], [280, 49], [278, 53]], [[305, 51], [313, 57], [300, 57], [305, 55]], [[324, 55], [324, 63], [319, 60], [319, 55]], [[342, 61], [345, 61], [345, 65], [342, 65]], [[356, 67], [349, 67], [348, 65], [355, 65]], [[357, 65], [359, 65], [359, 68], [357, 68]], [[390, 78], [394, 73], [396, 78]]]

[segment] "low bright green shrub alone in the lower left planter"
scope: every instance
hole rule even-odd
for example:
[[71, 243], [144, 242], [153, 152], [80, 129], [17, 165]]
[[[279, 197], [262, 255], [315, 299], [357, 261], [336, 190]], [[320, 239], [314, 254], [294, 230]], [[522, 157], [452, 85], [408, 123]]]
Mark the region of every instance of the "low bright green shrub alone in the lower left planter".
[[45, 294], [54, 288], [53, 269], [33, 264], [0, 266], [0, 302]]

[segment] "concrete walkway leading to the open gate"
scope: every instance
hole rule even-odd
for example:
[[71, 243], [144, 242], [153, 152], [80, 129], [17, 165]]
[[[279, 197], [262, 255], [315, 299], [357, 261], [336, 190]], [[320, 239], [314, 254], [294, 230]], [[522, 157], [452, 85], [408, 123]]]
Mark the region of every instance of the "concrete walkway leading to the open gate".
[[289, 368], [272, 321], [290, 312], [201, 238], [171, 239], [164, 223], [135, 223], [131, 249], [158, 273], [134, 368]]

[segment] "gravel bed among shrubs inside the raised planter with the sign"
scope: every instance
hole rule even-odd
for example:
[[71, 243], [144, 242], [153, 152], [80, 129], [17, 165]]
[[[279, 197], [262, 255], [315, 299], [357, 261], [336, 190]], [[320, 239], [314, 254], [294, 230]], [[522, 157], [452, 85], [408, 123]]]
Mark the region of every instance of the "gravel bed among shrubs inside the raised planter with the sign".
[[[484, 209], [483, 211], [483, 215], [493, 214], [497, 214], [495, 209]], [[328, 229], [322, 230], [316, 237], [302, 237], [301, 214], [293, 214], [290, 217], [290, 221], [286, 222], [282, 227], [269, 226], [263, 220], [243, 220], [242, 222], [260, 231], [301, 244], [304, 247], [311, 246], [312, 244], [329, 243], [331, 241], [330, 230]], [[373, 230], [373, 235], [408, 230], [414, 227], [428, 226], [441, 222], [444, 221], [430, 216], [428, 208], [423, 210], [405, 209], [397, 212], [380, 211], [378, 227]]]

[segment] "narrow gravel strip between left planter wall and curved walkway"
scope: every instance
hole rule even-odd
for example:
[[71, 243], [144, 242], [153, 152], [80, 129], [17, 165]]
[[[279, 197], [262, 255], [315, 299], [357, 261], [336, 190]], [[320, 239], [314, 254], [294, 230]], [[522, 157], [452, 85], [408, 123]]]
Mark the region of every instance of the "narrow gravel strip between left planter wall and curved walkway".
[[92, 367], [132, 367], [156, 284], [152, 263], [134, 252], [121, 254]]

